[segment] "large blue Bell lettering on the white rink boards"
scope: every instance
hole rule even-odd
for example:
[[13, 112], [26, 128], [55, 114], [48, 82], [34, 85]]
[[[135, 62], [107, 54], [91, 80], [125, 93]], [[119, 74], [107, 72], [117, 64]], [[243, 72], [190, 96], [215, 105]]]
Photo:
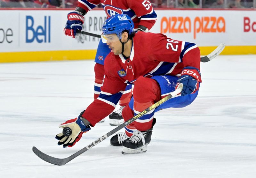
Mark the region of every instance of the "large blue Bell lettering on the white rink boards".
[[[36, 28], [36, 29], [35, 29]], [[41, 38], [39, 38], [41, 36]], [[48, 38], [47, 38], [48, 37]], [[26, 16], [26, 43], [32, 43], [36, 38], [38, 43], [51, 42], [51, 17], [44, 16], [44, 25], [34, 27], [34, 18]], [[47, 41], [48, 40], [48, 41]]]

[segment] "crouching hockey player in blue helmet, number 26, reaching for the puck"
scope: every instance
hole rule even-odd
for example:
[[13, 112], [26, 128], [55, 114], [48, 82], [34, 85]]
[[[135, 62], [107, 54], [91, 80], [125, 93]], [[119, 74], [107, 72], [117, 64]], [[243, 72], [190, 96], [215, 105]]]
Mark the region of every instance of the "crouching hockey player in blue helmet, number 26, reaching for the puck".
[[183, 88], [178, 97], [141, 116], [125, 127], [125, 133], [110, 139], [111, 145], [123, 145], [123, 154], [147, 151], [155, 112], [182, 108], [195, 100], [201, 82], [199, 48], [161, 33], [134, 33], [133, 28], [132, 19], [125, 14], [114, 15], [103, 24], [102, 39], [111, 53], [105, 59], [100, 96], [78, 118], [60, 124], [60, 128], [71, 128], [72, 135], [57, 134], [58, 145], [75, 145], [84, 132], [113, 111], [128, 83], [134, 84], [134, 89], [132, 100], [123, 109], [124, 121], [174, 91], [177, 84], [182, 83]]

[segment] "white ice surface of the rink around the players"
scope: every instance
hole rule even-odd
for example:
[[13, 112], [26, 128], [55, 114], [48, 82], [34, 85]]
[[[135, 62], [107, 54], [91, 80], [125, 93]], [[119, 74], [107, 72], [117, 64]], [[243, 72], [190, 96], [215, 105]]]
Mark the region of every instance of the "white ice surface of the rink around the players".
[[144, 154], [122, 155], [109, 137], [64, 166], [39, 159], [33, 146], [66, 158], [114, 129], [106, 119], [74, 147], [57, 145], [58, 125], [93, 101], [93, 66], [92, 60], [0, 64], [1, 178], [256, 177], [255, 55], [201, 63], [198, 97], [155, 114]]

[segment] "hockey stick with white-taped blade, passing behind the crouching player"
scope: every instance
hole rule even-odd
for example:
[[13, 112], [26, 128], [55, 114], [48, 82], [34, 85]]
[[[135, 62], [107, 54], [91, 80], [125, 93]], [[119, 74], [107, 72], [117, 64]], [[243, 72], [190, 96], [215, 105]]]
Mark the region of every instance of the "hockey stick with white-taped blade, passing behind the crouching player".
[[[101, 38], [100, 35], [97, 35], [97, 34], [94, 34], [94, 33], [89, 33], [89, 32], [84, 32], [84, 31], [81, 31], [79, 29], [76, 30], [76, 33]], [[214, 49], [210, 54], [208, 54], [207, 56], [201, 57], [201, 62], [203, 62], [203, 63], [209, 62], [214, 57], [218, 56], [223, 51], [225, 46], [226, 46], [225, 43], [221, 42], [220, 45], [216, 49]]]

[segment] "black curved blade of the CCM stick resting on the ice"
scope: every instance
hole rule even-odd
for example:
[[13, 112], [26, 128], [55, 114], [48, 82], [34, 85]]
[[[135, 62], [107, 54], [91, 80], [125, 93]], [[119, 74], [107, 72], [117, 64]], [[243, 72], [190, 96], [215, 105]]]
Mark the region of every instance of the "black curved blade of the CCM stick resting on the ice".
[[49, 156], [49, 155], [41, 152], [40, 150], [38, 150], [35, 146], [33, 146], [32, 150], [36, 154], [36, 156], [38, 156], [39, 158], [41, 158], [44, 161], [51, 163], [51, 164], [62, 166], [69, 161], [69, 158], [60, 159], [60, 158], [54, 158], [52, 156]]

